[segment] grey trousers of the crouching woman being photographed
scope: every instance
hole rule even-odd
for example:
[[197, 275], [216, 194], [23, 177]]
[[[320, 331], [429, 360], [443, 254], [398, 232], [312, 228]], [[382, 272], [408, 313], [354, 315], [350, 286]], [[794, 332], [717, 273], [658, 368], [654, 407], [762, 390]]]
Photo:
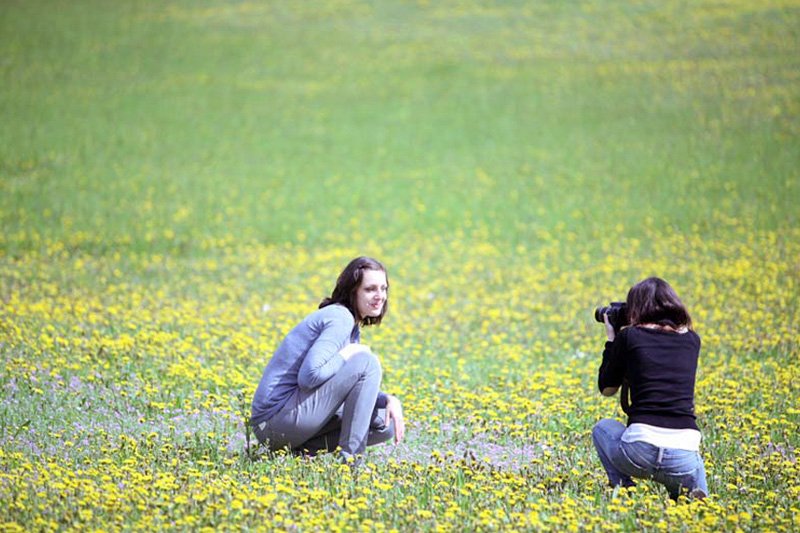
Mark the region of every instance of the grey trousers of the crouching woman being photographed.
[[298, 388], [275, 416], [257, 424], [253, 432], [271, 450], [315, 452], [338, 444], [346, 457], [362, 454], [367, 445], [394, 435], [393, 426], [384, 424], [375, 409], [381, 373], [375, 355], [353, 354], [316, 389]]

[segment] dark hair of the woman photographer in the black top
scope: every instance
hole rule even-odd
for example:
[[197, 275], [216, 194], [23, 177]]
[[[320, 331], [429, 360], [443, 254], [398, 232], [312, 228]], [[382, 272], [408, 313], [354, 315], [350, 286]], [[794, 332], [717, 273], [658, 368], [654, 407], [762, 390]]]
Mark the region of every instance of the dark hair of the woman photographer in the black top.
[[675, 290], [661, 278], [647, 278], [628, 291], [628, 320], [637, 324], [659, 324], [692, 329], [692, 317]]

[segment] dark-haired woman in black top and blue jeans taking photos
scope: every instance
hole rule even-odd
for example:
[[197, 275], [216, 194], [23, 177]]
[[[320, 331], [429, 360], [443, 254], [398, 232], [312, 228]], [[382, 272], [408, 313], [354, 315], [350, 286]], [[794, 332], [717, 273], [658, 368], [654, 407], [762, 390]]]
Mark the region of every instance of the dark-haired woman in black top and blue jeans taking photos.
[[603, 315], [608, 342], [598, 386], [604, 396], [623, 387], [628, 425], [612, 419], [595, 425], [600, 461], [612, 486], [650, 478], [672, 499], [681, 492], [704, 498], [708, 486], [694, 414], [700, 337], [678, 295], [660, 278], [634, 285], [626, 303], [627, 327], [617, 331]]

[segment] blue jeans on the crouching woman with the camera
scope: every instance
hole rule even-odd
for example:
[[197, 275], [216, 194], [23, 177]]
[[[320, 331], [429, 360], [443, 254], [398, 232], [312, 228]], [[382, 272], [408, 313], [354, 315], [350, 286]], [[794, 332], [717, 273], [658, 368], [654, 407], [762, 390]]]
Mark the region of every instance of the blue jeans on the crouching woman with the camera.
[[622, 442], [625, 426], [604, 419], [592, 430], [592, 440], [612, 486], [632, 486], [631, 478], [653, 479], [677, 499], [681, 490], [708, 494], [703, 458], [696, 451], [659, 448], [647, 442]]

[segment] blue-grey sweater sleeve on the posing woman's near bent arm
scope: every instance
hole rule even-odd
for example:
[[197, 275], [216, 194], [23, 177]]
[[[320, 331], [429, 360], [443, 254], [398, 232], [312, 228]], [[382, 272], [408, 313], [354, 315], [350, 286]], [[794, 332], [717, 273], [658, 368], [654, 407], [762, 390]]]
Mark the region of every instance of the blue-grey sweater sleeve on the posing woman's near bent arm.
[[297, 375], [300, 389], [315, 389], [342, 368], [344, 358], [339, 350], [349, 342], [353, 325], [353, 317], [347, 310], [332, 313], [322, 319], [322, 330], [308, 349]]

